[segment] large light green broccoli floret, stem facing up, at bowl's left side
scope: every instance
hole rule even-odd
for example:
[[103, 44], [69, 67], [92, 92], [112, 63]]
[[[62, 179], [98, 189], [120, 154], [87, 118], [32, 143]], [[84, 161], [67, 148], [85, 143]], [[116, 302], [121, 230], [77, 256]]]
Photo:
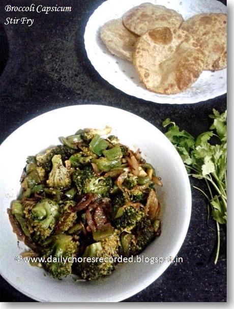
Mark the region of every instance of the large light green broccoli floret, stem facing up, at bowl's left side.
[[43, 199], [36, 205], [25, 204], [24, 214], [33, 239], [41, 243], [53, 232], [60, 207], [52, 200]]

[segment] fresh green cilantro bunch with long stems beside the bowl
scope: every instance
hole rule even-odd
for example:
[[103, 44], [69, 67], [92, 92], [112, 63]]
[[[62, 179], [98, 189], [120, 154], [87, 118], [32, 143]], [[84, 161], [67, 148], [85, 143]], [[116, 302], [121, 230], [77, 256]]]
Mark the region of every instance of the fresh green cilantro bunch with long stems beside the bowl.
[[211, 208], [211, 215], [216, 221], [216, 264], [220, 248], [219, 224], [226, 224], [227, 219], [227, 116], [226, 111], [220, 114], [213, 109], [213, 115], [209, 117], [214, 119], [210, 130], [201, 133], [197, 138], [185, 130], [180, 131], [176, 123], [169, 118], [163, 122], [163, 127], [170, 125], [165, 135], [181, 155], [189, 176], [203, 179], [207, 184], [208, 193], [195, 188], [208, 199], [208, 209]]

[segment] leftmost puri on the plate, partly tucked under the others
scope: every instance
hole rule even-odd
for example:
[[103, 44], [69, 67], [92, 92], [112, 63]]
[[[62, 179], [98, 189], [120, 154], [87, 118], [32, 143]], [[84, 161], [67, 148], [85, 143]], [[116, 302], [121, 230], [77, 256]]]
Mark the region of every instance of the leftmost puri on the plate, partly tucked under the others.
[[135, 42], [138, 36], [126, 29], [122, 18], [106, 22], [101, 27], [100, 36], [112, 54], [132, 62]]

